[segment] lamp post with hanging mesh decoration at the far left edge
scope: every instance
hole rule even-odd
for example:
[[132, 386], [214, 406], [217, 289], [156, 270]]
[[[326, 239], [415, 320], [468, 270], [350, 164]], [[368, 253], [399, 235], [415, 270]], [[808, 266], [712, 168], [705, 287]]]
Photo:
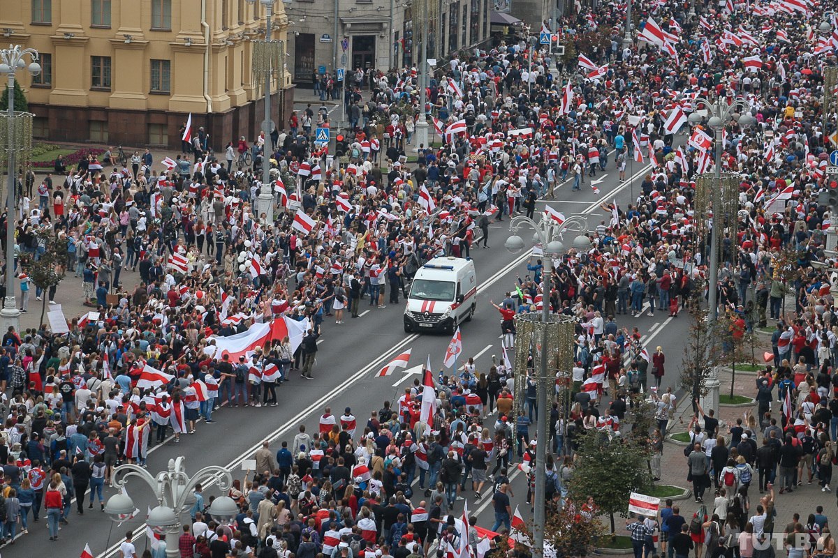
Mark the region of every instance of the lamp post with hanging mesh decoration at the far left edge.
[[[29, 64], [25, 58], [28, 56]], [[13, 325], [17, 330], [20, 325], [20, 310], [14, 299], [14, 195], [15, 195], [15, 156], [17, 151], [23, 151], [22, 159], [28, 159], [28, 151], [32, 149], [32, 115], [30, 113], [14, 111], [14, 74], [18, 69], [26, 69], [30, 75], [41, 73], [41, 65], [38, 64], [38, 51], [35, 49], [22, 49], [19, 44], [8, 45], [8, 49], [0, 49], [0, 74], [6, 74], [8, 79], [6, 91], [8, 93], [8, 110], [6, 111], [6, 137], [5, 148], [7, 151], [8, 187], [6, 190], [6, 202], [8, 213], [6, 214], [6, 299], [3, 300], [3, 310], [0, 310], [0, 323], [3, 330], [8, 330]]]

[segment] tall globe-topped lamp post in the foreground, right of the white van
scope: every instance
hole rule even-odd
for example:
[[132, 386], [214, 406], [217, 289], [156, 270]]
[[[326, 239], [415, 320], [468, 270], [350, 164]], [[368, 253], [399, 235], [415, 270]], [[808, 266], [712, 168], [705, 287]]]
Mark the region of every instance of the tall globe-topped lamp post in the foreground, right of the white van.
[[[536, 223], [530, 218], [522, 215], [512, 218], [510, 231], [513, 235], [506, 239], [505, 248], [510, 252], [520, 252], [525, 247], [524, 239], [518, 236], [522, 228], [531, 228], [535, 231], [533, 241], [541, 243], [544, 248], [544, 272], [542, 274], [541, 288], [541, 321], [546, 324], [550, 316], [550, 291], [552, 287], [553, 256], [561, 255], [565, 246], [559, 238], [566, 231], [578, 233], [573, 239], [573, 248], [587, 251], [591, 248], [591, 240], [587, 238], [587, 220], [581, 215], [572, 215], [562, 223], [548, 217], [546, 213], [541, 214], [541, 221]], [[543, 330], [541, 340], [541, 376], [538, 377], [538, 408], [540, 409], [535, 424], [535, 438], [538, 443], [535, 446], [535, 513], [533, 514], [533, 558], [544, 556], [544, 522], [546, 509], [546, 458], [547, 458], [547, 422], [550, 420], [550, 395], [549, 387], [555, 378], [547, 376], [547, 328]]]

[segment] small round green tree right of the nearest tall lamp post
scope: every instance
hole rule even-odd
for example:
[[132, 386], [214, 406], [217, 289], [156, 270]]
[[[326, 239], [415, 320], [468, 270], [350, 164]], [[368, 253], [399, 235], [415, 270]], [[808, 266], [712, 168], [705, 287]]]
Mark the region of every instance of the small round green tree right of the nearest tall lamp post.
[[572, 500], [584, 502], [592, 496], [597, 508], [610, 517], [613, 535], [614, 514], [628, 517], [629, 495], [652, 486], [650, 457], [645, 437], [609, 439], [598, 431], [587, 433], [579, 444], [570, 481]]

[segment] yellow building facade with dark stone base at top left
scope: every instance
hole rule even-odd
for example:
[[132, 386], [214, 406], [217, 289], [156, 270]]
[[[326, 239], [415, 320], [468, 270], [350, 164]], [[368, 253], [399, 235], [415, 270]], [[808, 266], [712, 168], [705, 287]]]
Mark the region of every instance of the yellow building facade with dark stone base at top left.
[[[285, 40], [282, 2], [272, 39]], [[193, 133], [220, 150], [258, 135], [264, 76], [251, 74], [251, 40], [264, 38], [259, 0], [18, 0], [0, 10], [3, 40], [38, 50], [42, 73], [18, 73], [34, 136], [123, 146], [179, 148]], [[291, 73], [274, 74], [272, 120], [291, 114]]]

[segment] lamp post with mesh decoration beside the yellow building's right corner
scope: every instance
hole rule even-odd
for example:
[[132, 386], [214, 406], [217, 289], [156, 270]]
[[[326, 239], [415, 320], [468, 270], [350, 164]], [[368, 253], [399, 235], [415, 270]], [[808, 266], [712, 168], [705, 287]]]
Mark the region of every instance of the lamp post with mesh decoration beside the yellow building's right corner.
[[[256, 0], [247, 0], [247, 2], [251, 5], [256, 4]], [[267, 223], [273, 222], [273, 187], [271, 185], [271, 161], [268, 155], [268, 146], [272, 145], [271, 76], [274, 71], [277, 72], [279, 77], [280, 88], [284, 89], [285, 87], [285, 44], [282, 41], [271, 40], [273, 2], [274, 0], [259, 0], [259, 3], [265, 8], [265, 40], [251, 42], [253, 74], [264, 74], [265, 78], [265, 116], [261, 123], [261, 129], [265, 132], [265, 146], [262, 148], [262, 187], [259, 190], [258, 209], [260, 215], [265, 213]]]

